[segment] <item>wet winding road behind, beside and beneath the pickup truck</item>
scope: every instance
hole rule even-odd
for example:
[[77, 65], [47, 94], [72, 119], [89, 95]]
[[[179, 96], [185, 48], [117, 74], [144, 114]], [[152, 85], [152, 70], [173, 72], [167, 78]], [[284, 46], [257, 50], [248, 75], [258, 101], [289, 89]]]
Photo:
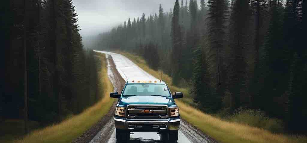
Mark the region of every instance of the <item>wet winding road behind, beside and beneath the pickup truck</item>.
[[[152, 79], [158, 80], [149, 73], [146, 73], [128, 58], [123, 55], [104, 52], [104, 51], [95, 51], [100, 53], [105, 53], [107, 57], [108, 64], [108, 76], [114, 86], [115, 91], [121, 92], [122, 86], [124, 83], [122, 79], [127, 80], [142, 80], [142, 79]], [[116, 68], [115, 68], [116, 67]], [[118, 73], [116, 73], [117, 71]], [[121, 77], [120, 77], [120, 76]], [[122, 79], [120, 79], [122, 78]], [[90, 143], [115, 143], [115, 124], [113, 116], [109, 117], [110, 120], [106, 125], [98, 132], [98, 134], [91, 140]], [[186, 123], [184, 120], [181, 120], [179, 127], [179, 138], [178, 143], [215, 143], [208, 136], [203, 134], [200, 130]], [[130, 134], [130, 143], [161, 143], [160, 135], [157, 133], [131, 133]]]

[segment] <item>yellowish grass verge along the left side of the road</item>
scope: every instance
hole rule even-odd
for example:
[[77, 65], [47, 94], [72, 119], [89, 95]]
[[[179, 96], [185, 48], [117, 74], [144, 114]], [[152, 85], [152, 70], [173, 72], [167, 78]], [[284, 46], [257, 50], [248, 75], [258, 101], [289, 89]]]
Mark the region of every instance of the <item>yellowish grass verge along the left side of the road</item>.
[[34, 130], [24, 138], [15, 139], [14, 143], [68, 143], [79, 137], [87, 129], [97, 123], [106, 113], [108, 113], [115, 99], [109, 98], [109, 93], [113, 91], [113, 86], [107, 76], [107, 64], [104, 54], [97, 53], [100, 59], [101, 70], [99, 71], [99, 94], [103, 98], [95, 105], [85, 109], [82, 113], [72, 116], [61, 123]]

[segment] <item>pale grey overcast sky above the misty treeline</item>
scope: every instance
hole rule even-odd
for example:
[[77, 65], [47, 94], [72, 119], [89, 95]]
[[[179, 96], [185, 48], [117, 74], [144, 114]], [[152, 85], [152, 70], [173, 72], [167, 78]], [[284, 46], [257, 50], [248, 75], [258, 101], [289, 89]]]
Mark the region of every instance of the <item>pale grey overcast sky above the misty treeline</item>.
[[175, 0], [73, 0], [82, 36], [108, 31], [142, 13], [147, 18], [150, 13], [158, 13], [159, 3], [164, 11], [169, 11]]

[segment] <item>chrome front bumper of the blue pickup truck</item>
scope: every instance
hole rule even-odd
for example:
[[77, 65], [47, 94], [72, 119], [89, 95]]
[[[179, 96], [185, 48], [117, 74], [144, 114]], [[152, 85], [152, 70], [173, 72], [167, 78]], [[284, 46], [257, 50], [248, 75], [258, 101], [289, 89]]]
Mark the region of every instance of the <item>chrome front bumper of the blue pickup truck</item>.
[[114, 117], [115, 127], [130, 132], [163, 132], [167, 130], [178, 130], [180, 117], [163, 120], [132, 120]]

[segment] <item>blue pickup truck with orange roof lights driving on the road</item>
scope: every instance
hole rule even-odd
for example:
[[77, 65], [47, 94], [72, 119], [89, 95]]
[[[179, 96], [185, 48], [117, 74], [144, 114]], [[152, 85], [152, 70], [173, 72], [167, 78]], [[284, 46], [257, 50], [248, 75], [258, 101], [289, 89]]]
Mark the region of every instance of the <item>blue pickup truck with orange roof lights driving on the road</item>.
[[116, 139], [126, 142], [130, 132], [158, 132], [164, 141], [176, 142], [180, 125], [179, 109], [174, 98], [183, 98], [181, 92], [172, 94], [163, 81], [128, 81], [119, 98], [114, 115]]

